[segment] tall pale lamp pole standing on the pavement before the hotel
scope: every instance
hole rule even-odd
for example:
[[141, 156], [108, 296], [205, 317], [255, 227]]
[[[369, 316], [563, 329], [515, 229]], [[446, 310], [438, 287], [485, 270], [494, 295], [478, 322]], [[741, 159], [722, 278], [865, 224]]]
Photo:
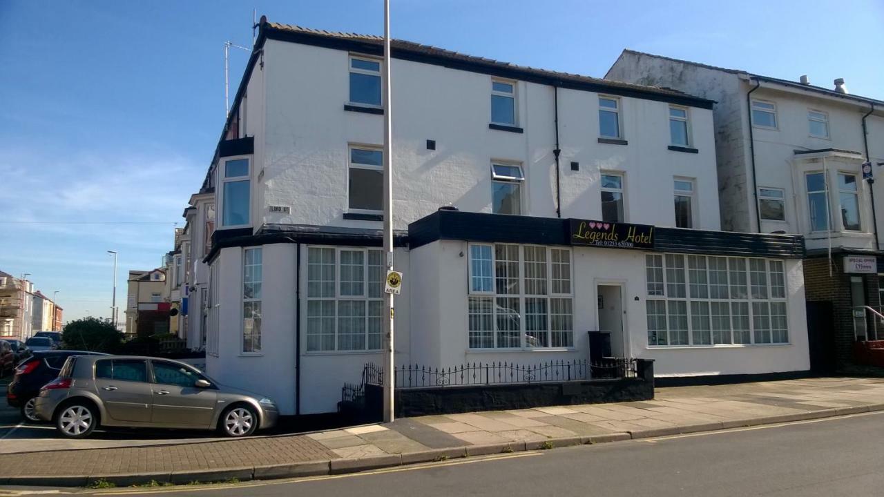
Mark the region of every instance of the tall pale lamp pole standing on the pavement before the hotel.
[[[392, 270], [392, 92], [390, 84], [390, 0], [384, 0], [384, 252]], [[385, 294], [384, 323], [384, 421], [393, 420], [393, 296]]]

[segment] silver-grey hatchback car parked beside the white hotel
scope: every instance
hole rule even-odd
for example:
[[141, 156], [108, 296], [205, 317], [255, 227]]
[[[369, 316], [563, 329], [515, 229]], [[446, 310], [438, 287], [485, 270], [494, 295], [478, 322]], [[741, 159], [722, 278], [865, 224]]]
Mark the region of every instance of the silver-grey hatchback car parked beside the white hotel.
[[38, 417], [80, 439], [98, 426], [217, 429], [245, 437], [271, 428], [271, 399], [217, 384], [193, 366], [139, 356], [72, 356], [40, 390]]

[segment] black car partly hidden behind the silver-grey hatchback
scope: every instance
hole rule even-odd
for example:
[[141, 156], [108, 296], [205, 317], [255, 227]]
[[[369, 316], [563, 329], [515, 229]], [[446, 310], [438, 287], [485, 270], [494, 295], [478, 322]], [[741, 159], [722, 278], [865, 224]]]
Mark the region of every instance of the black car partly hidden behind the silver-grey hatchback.
[[39, 422], [34, 414], [34, 399], [40, 388], [58, 376], [58, 371], [70, 356], [107, 356], [99, 352], [78, 350], [48, 350], [34, 352], [15, 369], [15, 376], [6, 387], [6, 402], [11, 407], [21, 409], [21, 416], [31, 422]]

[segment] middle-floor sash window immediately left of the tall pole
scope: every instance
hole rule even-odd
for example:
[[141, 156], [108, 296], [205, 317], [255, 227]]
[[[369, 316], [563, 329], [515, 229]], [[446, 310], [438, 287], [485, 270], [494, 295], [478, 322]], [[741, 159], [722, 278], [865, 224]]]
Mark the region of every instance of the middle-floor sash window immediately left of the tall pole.
[[350, 147], [347, 171], [348, 210], [384, 210], [384, 152]]

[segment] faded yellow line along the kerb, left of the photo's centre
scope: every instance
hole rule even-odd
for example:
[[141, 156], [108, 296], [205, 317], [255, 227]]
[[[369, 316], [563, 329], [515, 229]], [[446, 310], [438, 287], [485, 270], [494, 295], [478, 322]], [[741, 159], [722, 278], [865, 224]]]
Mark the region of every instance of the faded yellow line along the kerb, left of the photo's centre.
[[[500, 455], [483, 455], [478, 457], [465, 457], [458, 458], [454, 461], [446, 461], [444, 463], [421, 463], [421, 464], [413, 464], [408, 466], [397, 466], [392, 468], [383, 468], [380, 470], [370, 470], [370, 471], [362, 471], [358, 473], [346, 473], [342, 475], [324, 475], [319, 477], [305, 477], [305, 478], [286, 478], [286, 479], [278, 479], [278, 480], [270, 480], [270, 481], [253, 481], [253, 482], [244, 482], [241, 484], [234, 485], [206, 485], [206, 486], [167, 486], [164, 488], [156, 488], [156, 489], [143, 489], [143, 488], [133, 488], [132, 490], [125, 489], [117, 489], [111, 491], [99, 491], [99, 492], [91, 492], [89, 494], [92, 495], [138, 495], [144, 493], [178, 493], [178, 492], [204, 492], [204, 491], [212, 491], [212, 490], [221, 490], [223, 488], [251, 488], [256, 486], [274, 486], [274, 485], [286, 485], [291, 483], [303, 483], [309, 481], [321, 481], [327, 479], [339, 479], [339, 478], [353, 478], [353, 477], [364, 477], [370, 475], [378, 475], [384, 473], [398, 473], [401, 471], [414, 471], [414, 470], [429, 470], [432, 468], [441, 468], [444, 466], [458, 466], [461, 464], [470, 464], [470, 463], [485, 463], [489, 461], [500, 461], [502, 459], [514, 459], [517, 457], [530, 457], [533, 455], [543, 455], [542, 452], [532, 451], [532, 452], [520, 452], [514, 454], [500, 454]], [[121, 491], [122, 490], [122, 491]]]

